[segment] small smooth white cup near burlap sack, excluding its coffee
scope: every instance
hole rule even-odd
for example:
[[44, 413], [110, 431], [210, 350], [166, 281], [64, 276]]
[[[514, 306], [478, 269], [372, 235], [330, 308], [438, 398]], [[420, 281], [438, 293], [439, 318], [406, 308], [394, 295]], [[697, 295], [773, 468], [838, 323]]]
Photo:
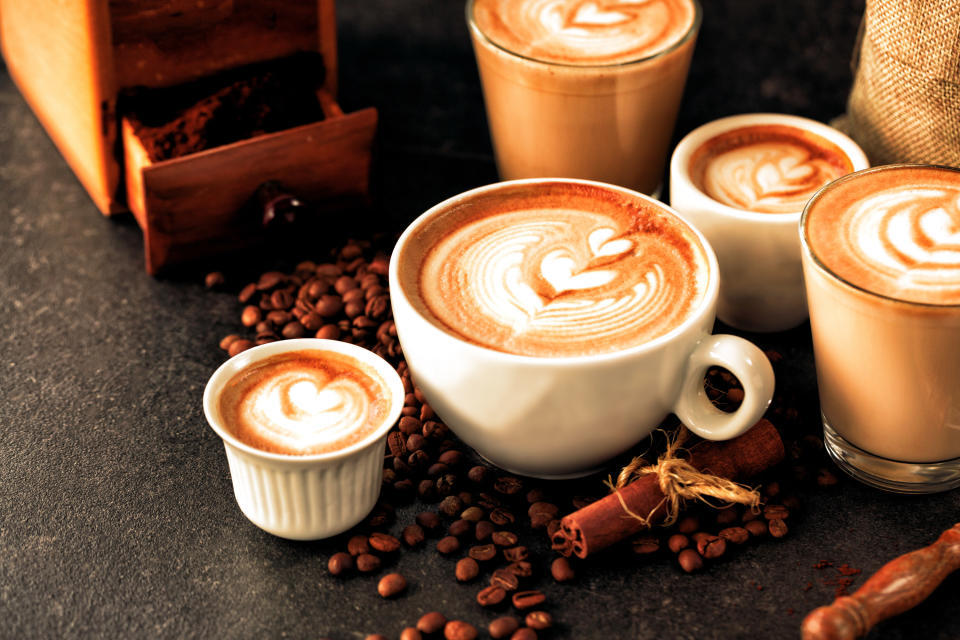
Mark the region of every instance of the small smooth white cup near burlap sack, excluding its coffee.
[[789, 213], [728, 206], [704, 193], [690, 173], [692, 158], [704, 144], [720, 134], [758, 125], [810, 132], [846, 155], [851, 171], [870, 165], [857, 143], [840, 131], [808, 118], [774, 113], [714, 120], [688, 133], [674, 150], [670, 205], [700, 229], [717, 252], [722, 281], [717, 316], [746, 331], [783, 331], [807, 318], [797, 235], [802, 204]]

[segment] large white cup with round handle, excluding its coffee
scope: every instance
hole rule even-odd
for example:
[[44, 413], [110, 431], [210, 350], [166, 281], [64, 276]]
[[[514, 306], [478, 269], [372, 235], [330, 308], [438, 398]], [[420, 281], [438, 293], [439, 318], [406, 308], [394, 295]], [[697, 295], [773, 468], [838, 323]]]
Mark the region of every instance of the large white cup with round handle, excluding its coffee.
[[[711, 440], [736, 437], [755, 424], [773, 395], [773, 369], [750, 342], [711, 335], [719, 272], [713, 251], [695, 229], [709, 264], [702, 299], [665, 335], [621, 351], [571, 357], [505, 353], [455, 336], [417, 310], [399, 272], [404, 260], [422, 258], [405, 247], [427, 221], [462, 209], [479, 196], [547, 182], [615, 190], [676, 216], [663, 203], [621, 187], [530, 179], [462, 193], [411, 223], [391, 259], [391, 301], [411, 375], [440, 418], [494, 464], [543, 478], [590, 473], [637, 444], [670, 412]], [[743, 384], [743, 404], [733, 413], [715, 408], [704, 390], [704, 374], [714, 365], [725, 367]]]

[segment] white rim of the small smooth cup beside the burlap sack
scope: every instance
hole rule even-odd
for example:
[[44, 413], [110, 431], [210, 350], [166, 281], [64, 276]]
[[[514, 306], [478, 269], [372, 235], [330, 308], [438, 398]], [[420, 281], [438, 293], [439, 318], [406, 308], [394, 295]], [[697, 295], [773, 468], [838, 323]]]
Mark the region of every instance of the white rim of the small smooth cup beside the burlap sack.
[[[793, 126], [798, 129], [809, 131], [815, 135], [825, 138], [828, 142], [835, 144], [847, 156], [853, 165], [853, 172], [862, 171], [870, 167], [870, 161], [866, 153], [860, 148], [853, 138], [843, 131], [830, 126], [829, 124], [787, 113], [774, 112], [755, 112], [739, 113], [730, 116], [724, 116], [701, 124], [697, 128], [687, 133], [673, 150], [670, 157], [670, 180], [676, 182], [679, 186], [691, 190], [697, 196], [710, 203], [713, 212], [721, 212], [724, 215], [749, 220], [751, 222], [766, 221], [768, 223], [796, 223], [800, 220], [803, 208], [795, 212], [788, 213], [764, 213], [760, 211], [748, 211], [738, 209], [728, 204], [724, 204], [703, 192], [700, 187], [694, 184], [690, 178], [690, 158], [700, 148], [700, 146], [709, 139], [751, 124], [781, 124]], [[849, 174], [848, 174], [849, 175]], [[842, 178], [843, 176], [841, 176]], [[816, 192], [814, 192], [816, 193]], [[812, 196], [811, 196], [812, 197]]]

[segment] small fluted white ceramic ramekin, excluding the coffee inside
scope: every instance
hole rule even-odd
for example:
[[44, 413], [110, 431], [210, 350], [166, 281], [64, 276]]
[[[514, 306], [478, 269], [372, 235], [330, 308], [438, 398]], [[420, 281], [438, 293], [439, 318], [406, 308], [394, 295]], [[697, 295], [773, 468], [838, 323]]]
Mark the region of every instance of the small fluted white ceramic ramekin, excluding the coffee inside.
[[[390, 390], [389, 415], [369, 436], [345, 449], [305, 456], [260, 451], [227, 431], [217, 400], [224, 385], [254, 362], [289, 351], [333, 351], [371, 366]], [[255, 525], [291, 540], [317, 540], [346, 531], [370, 513], [380, 494], [387, 431], [403, 408], [403, 382], [389, 363], [345, 342], [301, 338], [248, 349], [224, 362], [203, 392], [207, 422], [223, 439], [237, 504]]]

